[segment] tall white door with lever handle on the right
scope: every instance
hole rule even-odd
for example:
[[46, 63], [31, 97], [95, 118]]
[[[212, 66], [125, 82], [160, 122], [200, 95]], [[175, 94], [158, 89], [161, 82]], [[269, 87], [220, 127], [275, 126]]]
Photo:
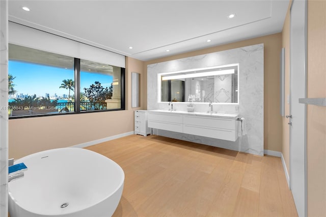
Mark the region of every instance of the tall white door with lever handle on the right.
[[294, 0], [290, 30], [290, 188], [299, 216], [307, 216], [306, 98], [307, 1]]

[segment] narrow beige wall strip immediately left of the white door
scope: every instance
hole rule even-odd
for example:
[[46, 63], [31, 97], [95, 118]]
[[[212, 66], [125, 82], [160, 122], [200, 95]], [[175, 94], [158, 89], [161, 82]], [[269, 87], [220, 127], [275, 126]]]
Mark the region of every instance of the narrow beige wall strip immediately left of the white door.
[[[292, 2], [292, 1], [290, 1]], [[285, 48], [285, 76], [284, 76], [284, 83], [285, 83], [285, 97], [284, 97], [284, 105], [285, 105], [285, 115], [290, 114], [290, 104], [287, 102], [288, 96], [290, 95], [290, 6], [289, 4], [288, 11], [285, 17], [283, 31], [282, 31], [282, 47]], [[289, 119], [283, 117], [282, 124], [283, 124], [283, 133], [282, 133], [282, 154], [284, 157], [285, 165], [287, 171], [289, 173], [290, 169], [290, 128], [287, 124]]]

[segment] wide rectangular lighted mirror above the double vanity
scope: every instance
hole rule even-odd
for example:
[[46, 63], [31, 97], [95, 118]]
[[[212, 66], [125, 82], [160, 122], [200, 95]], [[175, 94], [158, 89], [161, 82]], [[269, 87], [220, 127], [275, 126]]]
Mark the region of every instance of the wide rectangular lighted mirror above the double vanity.
[[238, 103], [238, 74], [238, 64], [161, 73], [161, 102]]

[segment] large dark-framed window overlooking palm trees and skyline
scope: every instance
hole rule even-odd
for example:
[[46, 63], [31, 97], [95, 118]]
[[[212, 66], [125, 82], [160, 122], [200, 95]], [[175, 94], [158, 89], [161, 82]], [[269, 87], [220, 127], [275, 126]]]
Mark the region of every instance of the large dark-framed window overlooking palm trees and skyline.
[[9, 117], [124, 110], [124, 68], [9, 44]]

